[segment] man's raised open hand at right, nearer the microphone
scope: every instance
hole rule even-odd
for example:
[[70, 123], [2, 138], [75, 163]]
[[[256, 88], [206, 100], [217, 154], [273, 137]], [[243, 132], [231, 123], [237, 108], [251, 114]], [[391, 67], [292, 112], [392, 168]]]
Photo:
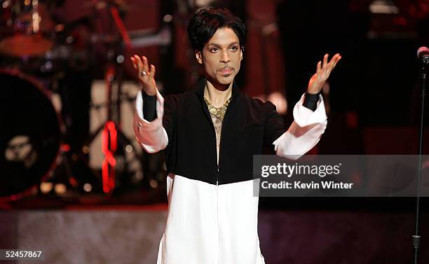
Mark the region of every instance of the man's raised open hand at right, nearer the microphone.
[[323, 85], [325, 85], [331, 71], [335, 68], [336, 64], [341, 60], [341, 55], [336, 53], [334, 57], [332, 57], [331, 61], [328, 63], [328, 54], [325, 54], [322, 62], [318, 62], [318, 67], [316, 69], [316, 73], [311, 76], [310, 81], [308, 82], [307, 92], [309, 94], [318, 94], [320, 90], [322, 90]]

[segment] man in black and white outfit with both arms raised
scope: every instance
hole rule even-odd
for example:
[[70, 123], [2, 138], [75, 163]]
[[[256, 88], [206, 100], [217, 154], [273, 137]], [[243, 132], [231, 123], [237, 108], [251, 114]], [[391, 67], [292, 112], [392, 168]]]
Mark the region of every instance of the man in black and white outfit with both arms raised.
[[[135, 134], [149, 153], [165, 148], [168, 219], [158, 264], [261, 264], [257, 234], [258, 197], [252, 193], [252, 156], [264, 144], [277, 155], [303, 155], [327, 124], [318, 93], [336, 63], [319, 62], [306, 95], [294, 108], [289, 130], [271, 102], [247, 97], [234, 78], [246, 39], [243, 22], [222, 8], [204, 8], [191, 18], [188, 34], [205, 71], [197, 88], [163, 97], [155, 67], [131, 60], [143, 92], [137, 95]], [[268, 70], [268, 69], [267, 69]]]

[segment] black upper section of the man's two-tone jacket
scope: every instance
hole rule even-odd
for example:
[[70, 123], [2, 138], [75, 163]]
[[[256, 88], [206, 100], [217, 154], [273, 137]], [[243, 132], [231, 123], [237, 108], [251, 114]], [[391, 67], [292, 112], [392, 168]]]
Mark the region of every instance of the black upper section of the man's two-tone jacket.
[[212, 184], [253, 179], [253, 155], [285, 132], [282, 117], [271, 102], [261, 102], [233, 85], [226, 110], [217, 165], [216, 134], [204, 102], [205, 80], [195, 90], [165, 97], [163, 126], [168, 172]]

